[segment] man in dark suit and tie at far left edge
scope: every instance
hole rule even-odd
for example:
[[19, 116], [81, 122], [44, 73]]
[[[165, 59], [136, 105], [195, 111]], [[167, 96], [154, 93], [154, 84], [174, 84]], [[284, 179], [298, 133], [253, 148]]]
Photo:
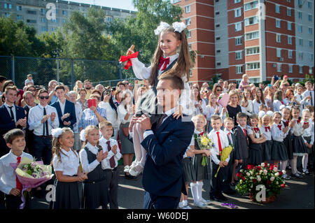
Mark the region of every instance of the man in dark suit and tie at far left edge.
[[27, 127], [24, 108], [14, 104], [18, 97], [18, 89], [15, 86], [6, 87], [4, 96], [6, 97], [6, 102], [0, 107], [0, 157], [10, 151], [6, 146], [3, 134], [6, 134], [11, 129]]

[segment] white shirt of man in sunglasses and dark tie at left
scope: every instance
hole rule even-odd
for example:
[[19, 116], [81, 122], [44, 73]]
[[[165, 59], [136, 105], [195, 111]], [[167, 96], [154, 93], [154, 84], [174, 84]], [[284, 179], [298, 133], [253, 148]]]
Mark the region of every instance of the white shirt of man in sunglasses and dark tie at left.
[[[48, 118], [48, 134], [51, 135], [51, 129], [55, 129], [59, 127], [59, 119], [56, 108], [52, 106], [45, 106], [46, 114], [51, 115], [51, 113], [55, 113], [56, 117], [53, 122], [51, 122], [50, 117]], [[43, 136], [43, 125], [41, 120], [43, 119], [43, 106], [40, 104], [35, 106], [29, 110], [29, 130], [34, 130], [34, 134], [36, 136]]]

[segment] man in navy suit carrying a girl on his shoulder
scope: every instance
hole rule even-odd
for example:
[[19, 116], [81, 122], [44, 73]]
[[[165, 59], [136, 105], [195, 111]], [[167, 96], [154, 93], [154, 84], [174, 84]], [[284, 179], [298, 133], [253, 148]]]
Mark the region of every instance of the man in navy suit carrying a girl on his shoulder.
[[142, 176], [145, 189], [144, 208], [175, 209], [179, 205], [181, 192], [187, 194], [183, 179], [183, 154], [190, 145], [194, 124], [184, 122], [186, 117], [173, 117], [183, 89], [183, 81], [174, 75], [162, 75], [157, 89], [158, 105], [162, 117], [151, 125], [147, 115], [133, 117], [144, 130], [141, 145], [147, 151]]

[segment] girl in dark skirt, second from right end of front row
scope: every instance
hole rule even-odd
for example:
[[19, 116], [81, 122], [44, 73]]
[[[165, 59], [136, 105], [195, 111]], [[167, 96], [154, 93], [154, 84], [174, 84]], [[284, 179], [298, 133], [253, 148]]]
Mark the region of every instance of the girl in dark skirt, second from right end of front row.
[[304, 130], [309, 127], [308, 122], [300, 120], [301, 110], [299, 107], [293, 107], [291, 109], [291, 115], [295, 121], [294, 127], [292, 128], [292, 145], [293, 145], [293, 160], [291, 162], [292, 175], [296, 178], [302, 178], [304, 173], [297, 171], [297, 157], [302, 157], [307, 154], [307, 147], [304, 143], [303, 134]]

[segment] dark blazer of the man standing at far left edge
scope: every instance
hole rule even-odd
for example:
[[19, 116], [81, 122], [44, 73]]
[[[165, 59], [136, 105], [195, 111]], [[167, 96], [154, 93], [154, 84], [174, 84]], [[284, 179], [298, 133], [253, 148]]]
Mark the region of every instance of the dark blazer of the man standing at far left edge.
[[[24, 108], [20, 106], [15, 106], [15, 113], [16, 113], [16, 120], [20, 120], [21, 118], [25, 118], [25, 110]], [[10, 150], [6, 146], [6, 141], [4, 141], [3, 134], [6, 134], [11, 129], [22, 129], [20, 125], [18, 127], [15, 127], [15, 122], [11, 119], [10, 113], [8, 113], [8, 110], [6, 109], [6, 106], [0, 107], [0, 156], [3, 156], [3, 154], [8, 153]]]

